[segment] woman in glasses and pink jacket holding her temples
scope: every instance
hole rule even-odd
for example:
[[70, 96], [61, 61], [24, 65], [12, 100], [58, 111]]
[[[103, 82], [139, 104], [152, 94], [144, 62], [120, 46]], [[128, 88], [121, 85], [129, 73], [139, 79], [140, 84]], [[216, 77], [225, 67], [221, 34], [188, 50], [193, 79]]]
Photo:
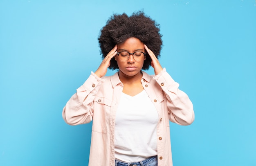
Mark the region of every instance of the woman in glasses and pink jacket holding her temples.
[[[169, 120], [194, 120], [189, 97], [157, 57], [159, 25], [141, 11], [113, 15], [101, 29], [103, 61], [63, 109], [70, 125], [92, 121], [89, 166], [172, 166]], [[155, 76], [141, 70], [154, 68]], [[105, 76], [107, 69], [117, 69]]]

